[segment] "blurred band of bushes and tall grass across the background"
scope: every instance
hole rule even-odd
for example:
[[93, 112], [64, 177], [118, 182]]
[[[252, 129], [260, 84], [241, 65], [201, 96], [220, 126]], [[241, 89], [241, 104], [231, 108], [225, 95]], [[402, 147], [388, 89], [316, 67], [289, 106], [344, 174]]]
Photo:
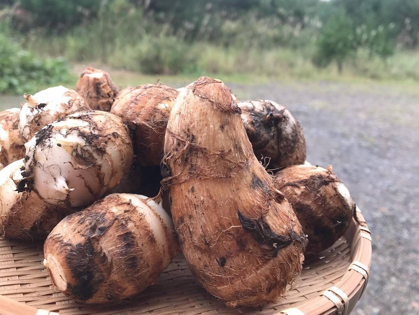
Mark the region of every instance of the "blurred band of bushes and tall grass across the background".
[[418, 0], [2, 3], [0, 92], [65, 80], [68, 62], [164, 75], [419, 81]]

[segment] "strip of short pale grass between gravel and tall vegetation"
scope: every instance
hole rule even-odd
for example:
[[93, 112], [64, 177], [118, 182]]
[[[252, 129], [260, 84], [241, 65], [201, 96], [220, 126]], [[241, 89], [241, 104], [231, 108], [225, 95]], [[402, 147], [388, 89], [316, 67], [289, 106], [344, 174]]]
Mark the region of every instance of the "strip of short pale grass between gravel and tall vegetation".
[[[383, 78], [377, 80], [365, 76], [355, 75], [349, 71], [345, 71], [343, 75], [338, 75], [333, 70], [327, 72], [318, 71], [317, 73], [312, 73], [309, 76], [295, 76], [290, 73], [284, 73], [283, 75], [252, 75], [246, 73], [217, 74], [209, 72], [187, 73], [178, 75], [150, 75], [126, 70], [118, 70], [106, 65], [100, 65], [95, 62], [86, 62], [84, 65], [78, 64], [73, 66], [68, 78], [66, 78], [63, 81], [57, 81], [54, 85], [63, 85], [68, 88], [74, 89], [75, 83], [78, 79], [78, 75], [80, 75], [80, 73], [83, 71], [85, 67], [90, 65], [96, 68], [107, 70], [110, 73], [116, 86], [122, 89], [124, 89], [127, 86], [137, 86], [144, 83], [157, 82], [165, 83], [177, 88], [185, 86], [195, 81], [200, 75], [208, 75], [214, 78], [218, 78], [226, 83], [237, 84], [238, 88], [236, 88], [234, 92], [242, 98], [246, 98], [249, 96], [246, 92], [246, 86], [254, 84], [266, 84], [269, 82], [277, 82], [287, 85], [292, 85], [294, 83], [307, 83], [308, 85], [310, 85], [311, 83], [328, 82], [330, 84], [323, 84], [321, 87], [325, 91], [334, 89], [334, 83], [344, 83], [348, 86], [348, 89], [353, 89], [354, 93], [360, 90], [371, 91], [372, 89], [375, 89], [375, 87], [377, 87], [377, 89], [380, 89], [380, 87], [386, 86], [389, 90], [419, 95], [419, 82], [414, 79]], [[25, 92], [28, 94], [34, 94], [37, 91], [41, 91], [50, 86], [51, 85], [45, 83], [34, 82], [31, 85], [31, 89]]]

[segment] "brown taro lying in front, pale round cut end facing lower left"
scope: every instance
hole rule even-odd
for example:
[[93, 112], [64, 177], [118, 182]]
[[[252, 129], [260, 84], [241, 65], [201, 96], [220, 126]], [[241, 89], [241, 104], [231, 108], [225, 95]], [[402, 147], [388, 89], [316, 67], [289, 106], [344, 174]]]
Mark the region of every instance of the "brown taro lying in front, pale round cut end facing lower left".
[[44, 265], [54, 286], [77, 302], [120, 302], [157, 283], [177, 253], [161, 206], [142, 195], [112, 194], [54, 228]]

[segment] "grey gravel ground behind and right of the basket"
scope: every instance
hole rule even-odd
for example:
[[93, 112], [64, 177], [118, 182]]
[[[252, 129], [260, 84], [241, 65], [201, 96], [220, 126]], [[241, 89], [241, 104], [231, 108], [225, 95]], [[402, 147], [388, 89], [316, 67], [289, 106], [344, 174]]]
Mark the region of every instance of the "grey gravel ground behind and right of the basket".
[[[180, 86], [180, 85], [179, 85]], [[345, 83], [228, 84], [300, 120], [308, 161], [333, 165], [373, 238], [367, 291], [353, 314], [419, 314], [419, 94]], [[0, 107], [21, 98], [1, 98]]]

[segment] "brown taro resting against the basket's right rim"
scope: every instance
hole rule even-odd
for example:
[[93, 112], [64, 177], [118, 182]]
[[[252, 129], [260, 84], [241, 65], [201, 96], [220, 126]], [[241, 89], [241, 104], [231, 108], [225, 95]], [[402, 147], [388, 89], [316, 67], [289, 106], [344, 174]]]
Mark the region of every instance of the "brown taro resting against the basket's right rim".
[[275, 174], [275, 185], [291, 203], [308, 234], [307, 255], [333, 245], [351, 223], [355, 203], [331, 167], [290, 166]]

